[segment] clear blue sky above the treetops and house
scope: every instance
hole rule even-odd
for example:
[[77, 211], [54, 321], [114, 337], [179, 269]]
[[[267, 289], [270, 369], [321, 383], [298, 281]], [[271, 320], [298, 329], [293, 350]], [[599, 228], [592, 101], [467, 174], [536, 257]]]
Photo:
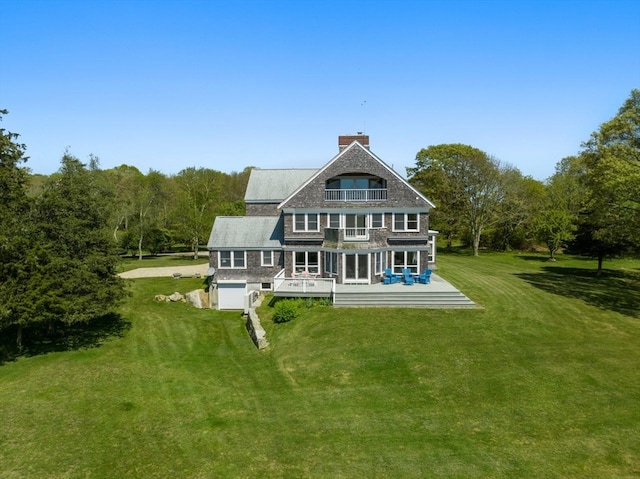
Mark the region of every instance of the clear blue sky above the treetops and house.
[[320, 167], [363, 131], [403, 176], [464, 143], [544, 180], [640, 87], [640, 2], [2, 0], [2, 128], [166, 174]]

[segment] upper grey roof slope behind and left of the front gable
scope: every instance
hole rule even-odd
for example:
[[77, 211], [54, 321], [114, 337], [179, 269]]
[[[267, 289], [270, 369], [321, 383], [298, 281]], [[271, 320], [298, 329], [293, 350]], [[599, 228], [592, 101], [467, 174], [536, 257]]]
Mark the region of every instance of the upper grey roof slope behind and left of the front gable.
[[253, 169], [249, 176], [244, 200], [248, 203], [279, 203], [317, 171], [317, 168]]

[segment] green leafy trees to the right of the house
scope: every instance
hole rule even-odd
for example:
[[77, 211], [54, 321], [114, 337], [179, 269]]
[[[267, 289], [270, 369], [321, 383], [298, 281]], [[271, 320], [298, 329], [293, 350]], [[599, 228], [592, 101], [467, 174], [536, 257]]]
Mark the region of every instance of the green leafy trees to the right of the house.
[[597, 258], [640, 251], [640, 90], [617, 115], [537, 181], [469, 145], [424, 148], [409, 182], [436, 203], [431, 226], [455, 240], [498, 250], [544, 245]]

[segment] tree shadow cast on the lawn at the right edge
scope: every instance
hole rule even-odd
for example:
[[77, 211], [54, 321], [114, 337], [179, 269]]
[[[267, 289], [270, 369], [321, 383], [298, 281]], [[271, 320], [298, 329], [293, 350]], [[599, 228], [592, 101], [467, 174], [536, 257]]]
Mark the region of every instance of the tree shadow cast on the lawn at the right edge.
[[548, 293], [576, 298], [600, 309], [640, 318], [640, 274], [636, 272], [543, 266], [539, 273], [516, 274]]

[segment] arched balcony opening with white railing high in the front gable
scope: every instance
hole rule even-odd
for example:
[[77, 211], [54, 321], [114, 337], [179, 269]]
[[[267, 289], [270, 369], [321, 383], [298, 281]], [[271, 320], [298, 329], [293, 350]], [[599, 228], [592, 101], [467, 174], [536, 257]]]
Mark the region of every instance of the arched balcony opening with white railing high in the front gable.
[[325, 184], [327, 201], [385, 201], [387, 180], [373, 175], [352, 174], [330, 178]]

